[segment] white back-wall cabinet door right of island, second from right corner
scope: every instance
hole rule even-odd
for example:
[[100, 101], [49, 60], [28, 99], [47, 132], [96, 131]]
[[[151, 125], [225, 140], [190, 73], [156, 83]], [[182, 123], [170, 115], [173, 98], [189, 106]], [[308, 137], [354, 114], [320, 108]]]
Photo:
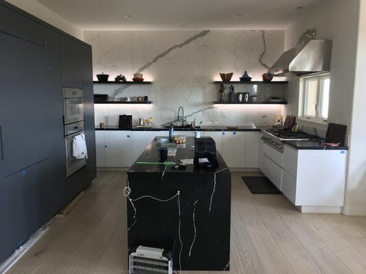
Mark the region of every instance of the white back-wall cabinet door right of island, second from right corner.
[[222, 133], [222, 158], [227, 166], [233, 168], [244, 167], [244, 132], [223, 132]]

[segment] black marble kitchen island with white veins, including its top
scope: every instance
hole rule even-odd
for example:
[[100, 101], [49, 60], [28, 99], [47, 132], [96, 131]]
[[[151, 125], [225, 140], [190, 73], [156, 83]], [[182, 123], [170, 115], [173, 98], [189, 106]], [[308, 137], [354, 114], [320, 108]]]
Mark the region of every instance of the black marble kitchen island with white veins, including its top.
[[[152, 140], [137, 162], [159, 162], [159, 146]], [[193, 158], [194, 138], [187, 137], [168, 161]], [[231, 173], [219, 153], [217, 160], [216, 170], [135, 162], [127, 172], [128, 249], [170, 250], [179, 271], [228, 271]]]

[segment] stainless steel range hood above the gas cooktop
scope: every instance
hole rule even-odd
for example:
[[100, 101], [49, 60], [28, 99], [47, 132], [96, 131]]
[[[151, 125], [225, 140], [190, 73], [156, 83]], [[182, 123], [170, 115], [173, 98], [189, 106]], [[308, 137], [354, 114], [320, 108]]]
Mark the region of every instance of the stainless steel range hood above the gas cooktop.
[[268, 73], [297, 76], [330, 71], [332, 40], [310, 40], [282, 53]]

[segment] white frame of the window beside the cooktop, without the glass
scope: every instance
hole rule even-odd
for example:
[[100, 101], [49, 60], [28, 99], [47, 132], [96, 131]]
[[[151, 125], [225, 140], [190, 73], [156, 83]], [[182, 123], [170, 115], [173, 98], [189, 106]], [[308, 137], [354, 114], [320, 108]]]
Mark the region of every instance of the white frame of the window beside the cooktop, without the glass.
[[[311, 80], [317, 80], [317, 105], [315, 109], [315, 116], [306, 115], [306, 110], [308, 105], [306, 105], [306, 83]], [[324, 103], [324, 80], [330, 80], [330, 73], [321, 73], [317, 75], [308, 75], [300, 78], [299, 85], [299, 119], [306, 121], [314, 121], [318, 123], [327, 123], [329, 117], [321, 116], [321, 110], [323, 109]], [[329, 102], [328, 102], [329, 105]], [[328, 116], [329, 116], [329, 106], [328, 106]]]

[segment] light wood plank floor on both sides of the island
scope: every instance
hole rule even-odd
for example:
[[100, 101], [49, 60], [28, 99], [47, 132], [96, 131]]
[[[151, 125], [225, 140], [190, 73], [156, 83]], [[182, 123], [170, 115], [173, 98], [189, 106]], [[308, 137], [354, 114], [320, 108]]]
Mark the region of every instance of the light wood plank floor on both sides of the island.
[[[229, 273], [366, 273], [366, 217], [300, 214], [282, 195], [251, 195], [241, 175], [232, 180]], [[127, 273], [124, 184], [123, 172], [98, 173], [9, 273]]]

